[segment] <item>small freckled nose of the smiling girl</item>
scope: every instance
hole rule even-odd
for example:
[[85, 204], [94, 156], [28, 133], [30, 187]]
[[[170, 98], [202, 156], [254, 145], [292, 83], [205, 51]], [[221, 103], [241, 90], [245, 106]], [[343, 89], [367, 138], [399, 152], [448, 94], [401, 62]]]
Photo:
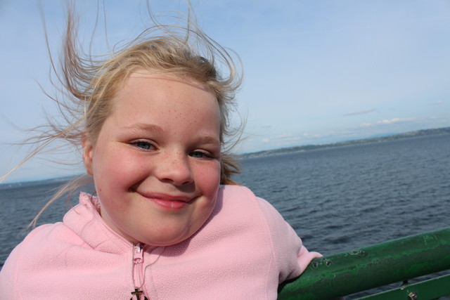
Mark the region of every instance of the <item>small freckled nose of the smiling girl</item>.
[[186, 185], [193, 182], [188, 155], [181, 152], [165, 152], [160, 155], [155, 166], [155, 176], [173, 185]]

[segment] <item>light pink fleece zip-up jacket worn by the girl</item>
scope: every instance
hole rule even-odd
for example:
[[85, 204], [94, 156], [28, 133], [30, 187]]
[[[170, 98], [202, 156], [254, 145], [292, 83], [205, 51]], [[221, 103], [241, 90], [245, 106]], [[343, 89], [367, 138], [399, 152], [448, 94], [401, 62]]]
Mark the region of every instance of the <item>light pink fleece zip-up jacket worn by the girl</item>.
[[169, 247], [127, 242], [98, 209], [82, 193], [63, 223], [32, 230], [1, 270], [0, 299], [276, 299], [280, 282], [320, 256], [271, 204], [236, 185], [219, 189], [195, 235]]

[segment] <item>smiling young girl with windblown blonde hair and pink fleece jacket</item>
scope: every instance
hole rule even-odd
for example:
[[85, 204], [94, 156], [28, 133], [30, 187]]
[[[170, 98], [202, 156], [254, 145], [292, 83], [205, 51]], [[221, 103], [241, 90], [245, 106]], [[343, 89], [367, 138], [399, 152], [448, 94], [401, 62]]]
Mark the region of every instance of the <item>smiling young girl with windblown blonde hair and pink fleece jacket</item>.
[[96, 193], [13, 250], [0, 298], [276, 299], [319, 254], [231, 181], [231, 57], [189, 24], [88, 62], [72, 20], [60, 78], [75, 105], [41, 141], [79, 141]]

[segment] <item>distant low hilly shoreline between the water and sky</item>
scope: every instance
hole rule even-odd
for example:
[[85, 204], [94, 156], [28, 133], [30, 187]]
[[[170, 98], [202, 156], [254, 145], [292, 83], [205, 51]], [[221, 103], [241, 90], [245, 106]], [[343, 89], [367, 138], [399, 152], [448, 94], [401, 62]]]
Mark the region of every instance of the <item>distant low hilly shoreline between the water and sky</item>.
[[285, 153], [292, 152], [302, 152], [308, 150], [316, 150], [321, 148], [333, 148], [333, 147], [342, 147], [347, 145], [358, 145], [358, 144], [366, 144], [366, 143], [380, 143], [385, 141], [398, 140], [401, 138], [413, 138], [416, 136], [434, 136], [437, 134], [445, 134], [450, 133], [450, 127], [438, 128], [438, 129], [423, 129], [419, 131], [411, 131], [406, 133], [394, 134], [392, 136], [381, 136], [378, 138], [363, 138], [360, 140], [352, 140], [352, 141], [344, 141], [337, 143], [328, 143], [328, 144], [319, 144], [319, 145], [302, 145], [302, 146], [294, 146], [288, 148], [279, 148], [274, 150], [265, 150], [259, 152], [251, 152], [245, 153], [243, 155], [239, 155], [240, 158], [250, 158], [250, 157], [262, 157], [269, 155], [279, 155]]

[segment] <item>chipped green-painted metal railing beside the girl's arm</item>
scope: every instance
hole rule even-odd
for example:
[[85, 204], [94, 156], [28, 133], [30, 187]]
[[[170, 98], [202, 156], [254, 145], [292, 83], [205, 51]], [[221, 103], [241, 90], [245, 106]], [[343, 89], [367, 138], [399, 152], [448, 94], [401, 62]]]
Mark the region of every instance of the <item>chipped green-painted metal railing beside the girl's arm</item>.
[[[278, 299], [333, 299], [450, 270], [450, 227], [314, 259]], [[450, 274], [364, 299], [436, 299], [450, 295]]]

